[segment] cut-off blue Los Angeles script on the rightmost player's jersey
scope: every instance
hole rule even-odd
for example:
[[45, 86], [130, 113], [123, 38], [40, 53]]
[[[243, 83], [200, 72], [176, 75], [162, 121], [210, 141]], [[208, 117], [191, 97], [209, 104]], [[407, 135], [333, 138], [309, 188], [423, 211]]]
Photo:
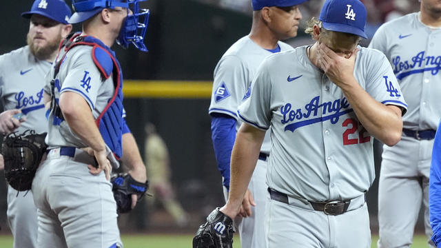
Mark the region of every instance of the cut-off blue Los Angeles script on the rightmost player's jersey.
[[401, 61], [401, 56], [392, 59], [393, 73], [397, 79], [416, 73], [431, 71], [432, 75], [438, 74], [441, 70], [441, 56], [429, 56], [425, 51], [418, 52], [409, 61]]

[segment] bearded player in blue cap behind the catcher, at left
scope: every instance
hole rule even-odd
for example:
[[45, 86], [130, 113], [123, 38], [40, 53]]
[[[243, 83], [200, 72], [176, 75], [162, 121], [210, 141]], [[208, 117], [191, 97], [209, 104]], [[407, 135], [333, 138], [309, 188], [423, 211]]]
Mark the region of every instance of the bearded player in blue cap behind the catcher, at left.
[[[71, 12], [64, 1], [36, 0], [28, 12], [28, 45], [0, 56], [0, 114], [3, 134], [25, 130], [47, 132], [43, 105], [44, 76], [50, 70], [63, 37], [72, 30]], [[21, 116], [21, 117], [20, 117]], [[8, 186], [8, 223], [14, 247], [37, 247], [37, 208], [32, 192]]]

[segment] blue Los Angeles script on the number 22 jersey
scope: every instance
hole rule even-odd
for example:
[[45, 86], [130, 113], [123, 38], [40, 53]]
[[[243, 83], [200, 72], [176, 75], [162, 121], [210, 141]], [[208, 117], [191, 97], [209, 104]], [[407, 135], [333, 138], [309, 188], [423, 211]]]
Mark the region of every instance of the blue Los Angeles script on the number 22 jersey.
[[[286, 103], [282, 107], [280, 107], [280, 113], [283, 114], [282, 124], [287, 124], [285, 126], [285, 131], [289, 130], [294, 132], [298, 127], [303, 127], [305, 125], [311, 125], [314, 123], [319, 123], [322, 121], [330, 120], [332, 124], [336, 124], [340, 116], [347, 114], [349, 112], [353, 112], [352, 109], [348, 109], [349, 103], [347, 99], [343, 97], [343, 99], [336, 99], [335, 101], [320, 103], [320, 96], [314, 97], [307, 105], [305, 105], [305, 109], [298, 108], [294, 110], [292, 108], [291, 103]], [[347, 109], [347, 110], [344, 110]], [[317, 118], [309, 118], [310, 116], [317, 116], [318, 111], [321, 110], [322, 116]], [[305, 121], [300, 121], [303, 118], [309, 118]], [[292, 123], [293, 121], [298, 121], [296, 123]]]

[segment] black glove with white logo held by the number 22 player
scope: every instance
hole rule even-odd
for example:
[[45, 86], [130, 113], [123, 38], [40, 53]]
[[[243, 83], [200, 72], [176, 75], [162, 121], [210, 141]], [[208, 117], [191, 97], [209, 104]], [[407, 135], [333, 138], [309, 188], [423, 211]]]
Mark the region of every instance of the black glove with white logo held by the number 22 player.
[[233, 220], [217, 207], [207, 217], [193, 238], [193, 248], [232, 248]]

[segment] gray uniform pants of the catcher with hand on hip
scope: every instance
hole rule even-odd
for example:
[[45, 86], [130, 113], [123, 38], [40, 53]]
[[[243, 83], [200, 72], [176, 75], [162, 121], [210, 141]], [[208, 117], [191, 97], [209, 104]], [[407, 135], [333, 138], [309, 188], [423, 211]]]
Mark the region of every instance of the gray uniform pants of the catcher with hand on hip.
[[[50, 155], [49, 155], [50, 156]], [[39, 247], [123, 247], [112, 184], [85, 163], [48, 158], [32, 184], [39, 208]]]

